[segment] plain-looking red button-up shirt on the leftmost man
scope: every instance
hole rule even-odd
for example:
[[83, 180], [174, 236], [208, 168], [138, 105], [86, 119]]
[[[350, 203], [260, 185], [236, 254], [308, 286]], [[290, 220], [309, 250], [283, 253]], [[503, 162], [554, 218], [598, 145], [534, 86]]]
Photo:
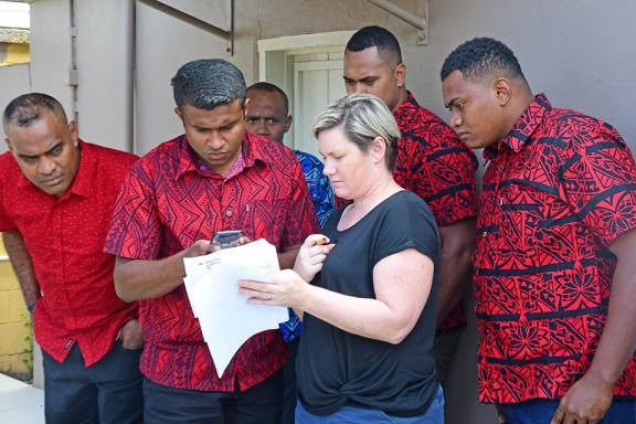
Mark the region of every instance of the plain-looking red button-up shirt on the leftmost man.
[[31, 183], [11, 152], [0, 156], [0, 231], [19, 230], [33, 262], [42, 292], [33, 312], [35, 340], [60, 362], [77, 342], [88, 367], [137, 316], [137, 303], [117, 297], [115, 259], [102, 252], [119, 187], [137, 157], [80, 146], [77, 174], [60, 199]]

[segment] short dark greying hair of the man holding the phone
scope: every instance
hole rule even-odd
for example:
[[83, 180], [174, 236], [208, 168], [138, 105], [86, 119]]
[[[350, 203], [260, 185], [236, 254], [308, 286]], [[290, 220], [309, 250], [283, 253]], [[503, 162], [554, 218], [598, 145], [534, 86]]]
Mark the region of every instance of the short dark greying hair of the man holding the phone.
[[212, 110], [235, 99], [245, 102], [245, 78], [236, 66], [222, 59], [192, 61], [179, 68], [171, 81], [174, 102]]

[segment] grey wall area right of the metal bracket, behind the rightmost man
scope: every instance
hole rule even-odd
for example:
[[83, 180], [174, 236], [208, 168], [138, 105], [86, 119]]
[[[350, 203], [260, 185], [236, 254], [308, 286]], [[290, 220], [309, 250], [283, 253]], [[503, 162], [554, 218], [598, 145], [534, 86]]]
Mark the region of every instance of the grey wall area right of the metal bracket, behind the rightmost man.
[[[426, 107], [446, 116], [437, 75], [449, 51], [474, 36], [494, 36], [515, 51], [536, 93], [615, 125], [634, 150], [636, 121], [621, 107], [636, 93], [634, 1], [451, 0], [431, 2], [431, 42], [409, 78]], [[407, 47], [407, 63], [416, 51]]]

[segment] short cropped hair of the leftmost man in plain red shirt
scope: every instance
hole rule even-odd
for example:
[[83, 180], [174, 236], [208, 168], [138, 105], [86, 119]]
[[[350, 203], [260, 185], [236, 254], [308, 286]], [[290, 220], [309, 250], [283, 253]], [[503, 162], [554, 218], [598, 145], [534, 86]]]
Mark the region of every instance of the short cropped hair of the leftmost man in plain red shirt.
[[54, 97], [43, 93], [28, 93], [12, 99], [2, 116], [4, 134], [9, 125], [30, 127], [42, 117], [42, 112], [51, 112], [66, 123], [64, 108]]

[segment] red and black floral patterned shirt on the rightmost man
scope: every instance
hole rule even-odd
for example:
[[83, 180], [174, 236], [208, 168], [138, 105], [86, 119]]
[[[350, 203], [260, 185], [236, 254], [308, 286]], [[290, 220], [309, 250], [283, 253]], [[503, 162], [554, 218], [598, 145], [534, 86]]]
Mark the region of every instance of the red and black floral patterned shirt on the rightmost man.
[[[636, 168], [616, 130], [543, 95], [489, 160], [474, 254], [479, 398], [558, 399], [589, 369], [636, 227]], [[632, 358], [614, 394], [636, 395]]]

